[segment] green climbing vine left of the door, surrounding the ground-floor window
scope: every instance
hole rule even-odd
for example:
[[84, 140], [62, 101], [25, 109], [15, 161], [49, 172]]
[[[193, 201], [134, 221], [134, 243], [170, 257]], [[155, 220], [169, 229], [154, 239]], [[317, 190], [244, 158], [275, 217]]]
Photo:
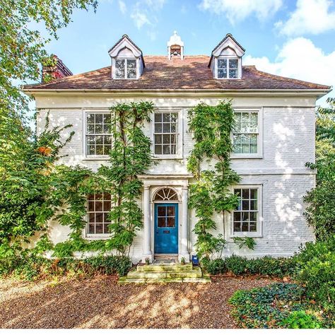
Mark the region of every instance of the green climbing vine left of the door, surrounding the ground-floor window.
[[[71, 228], [69, 240], [54, 247], [54, 255], [58, 257], [90, 250], [115, 250], [117, 254], [129, 256], [136, 232], [143, 227], [139, 207], [142, 182], [138, 175], [146, 172], [153, 163], [151, 141], [143, 133], [144, 122], [150, 121], [153, 103], [117, 104], [110, 108], [110, 112], [112, 150], [109, 165], [102, 165], [96, 173], [83, 167], [70, 170], [64, 167], [62, 173], [66, 184], [56, 187], [59, 196], [56, 202], [61, 208], [57, 220]], [[111, 195], [110, 238], [107, 240], [88, 241], [82, 237], [86, 225], [86, 197], [94, 192]]]

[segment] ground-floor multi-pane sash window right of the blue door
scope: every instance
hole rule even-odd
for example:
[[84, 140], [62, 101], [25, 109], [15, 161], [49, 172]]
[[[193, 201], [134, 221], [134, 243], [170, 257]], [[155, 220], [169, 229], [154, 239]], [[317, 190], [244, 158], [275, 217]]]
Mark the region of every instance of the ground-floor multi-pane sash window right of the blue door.
[[235, 187], [234, 194], [238, 196], [239, 201], [233, 211], [233, 235], [260, 233], [260, 187]]

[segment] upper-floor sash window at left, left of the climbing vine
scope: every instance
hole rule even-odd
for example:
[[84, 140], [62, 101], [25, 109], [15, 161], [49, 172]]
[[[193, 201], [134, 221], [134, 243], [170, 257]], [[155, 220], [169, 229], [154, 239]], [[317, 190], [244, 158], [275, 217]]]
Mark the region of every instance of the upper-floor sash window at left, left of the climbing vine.
[[86, 155], [108, 155], [112, 148], [110, 112], [86, 113]]

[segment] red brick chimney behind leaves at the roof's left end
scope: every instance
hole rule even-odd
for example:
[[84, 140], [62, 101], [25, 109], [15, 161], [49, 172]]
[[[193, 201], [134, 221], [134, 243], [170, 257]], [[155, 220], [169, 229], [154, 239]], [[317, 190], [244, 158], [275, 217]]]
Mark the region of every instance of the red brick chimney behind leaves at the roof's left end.
[[42, 62], [42, 83], [49, 83], [58, 78], [72, 76], [72, 72], [55, 54]]

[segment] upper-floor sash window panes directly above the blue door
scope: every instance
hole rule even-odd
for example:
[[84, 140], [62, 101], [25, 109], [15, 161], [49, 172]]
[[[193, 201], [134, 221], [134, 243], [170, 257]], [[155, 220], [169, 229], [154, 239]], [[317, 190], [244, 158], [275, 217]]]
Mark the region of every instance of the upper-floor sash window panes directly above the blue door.
[[153, 126], [155, 155], [177, 155], [179, 141], [178, 112], [155, 112]]

